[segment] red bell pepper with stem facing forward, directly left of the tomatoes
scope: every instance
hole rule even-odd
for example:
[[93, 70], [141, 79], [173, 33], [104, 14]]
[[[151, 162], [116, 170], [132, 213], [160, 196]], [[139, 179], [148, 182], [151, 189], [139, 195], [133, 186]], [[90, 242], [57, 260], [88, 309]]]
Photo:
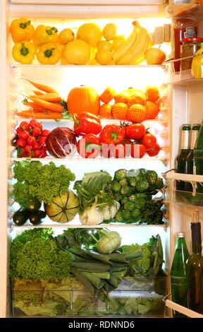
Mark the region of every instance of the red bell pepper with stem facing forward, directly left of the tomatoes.
[[101, 131], [100, 138], [102, 143], [118, 144], [125, 137], [125, 129], [117, 124], [106, 124]]

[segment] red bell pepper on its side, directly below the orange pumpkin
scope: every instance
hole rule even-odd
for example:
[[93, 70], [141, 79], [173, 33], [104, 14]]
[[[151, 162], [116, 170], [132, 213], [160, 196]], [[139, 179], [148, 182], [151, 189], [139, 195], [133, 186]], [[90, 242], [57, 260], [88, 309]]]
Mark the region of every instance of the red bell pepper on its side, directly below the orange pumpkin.
[[99, 118], [89, 112], [82, 112], [81, 114], [73, 115], [74, 131], [75, 134], [85, 135], [85, 134], [99, 134], [102, 127]]

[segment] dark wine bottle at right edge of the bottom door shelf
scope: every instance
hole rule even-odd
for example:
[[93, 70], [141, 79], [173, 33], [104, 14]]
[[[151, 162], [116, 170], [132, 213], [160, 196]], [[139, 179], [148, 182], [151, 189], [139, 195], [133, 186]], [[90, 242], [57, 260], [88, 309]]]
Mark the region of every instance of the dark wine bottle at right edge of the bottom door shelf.
[[202, 303], [202, 278], [203, 278], [203, 257], [202, 257], [202, 239], [201, 223], [198, 222], [199, 213], [195, 211], [192, 214], [192, 255], [187, 260], [187, 283], [188, 283], [188, 304], [189, 308], [195, 312], [203, 314]]

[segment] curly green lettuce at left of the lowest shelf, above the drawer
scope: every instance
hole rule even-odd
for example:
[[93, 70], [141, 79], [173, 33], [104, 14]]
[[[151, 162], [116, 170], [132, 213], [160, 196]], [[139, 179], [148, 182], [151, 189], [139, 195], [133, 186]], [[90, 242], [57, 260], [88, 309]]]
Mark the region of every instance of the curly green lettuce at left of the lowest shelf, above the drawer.
[[34, 228], [25, 230], [11, 242], [10, 277], [56, 279], [70, 271], [70, 254], [61, 250], [52, 230]]

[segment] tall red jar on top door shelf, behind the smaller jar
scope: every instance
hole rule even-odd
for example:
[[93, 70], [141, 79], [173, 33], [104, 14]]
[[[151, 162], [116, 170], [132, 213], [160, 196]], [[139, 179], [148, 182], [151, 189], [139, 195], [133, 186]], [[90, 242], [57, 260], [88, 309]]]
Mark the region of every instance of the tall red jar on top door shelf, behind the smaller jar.
[[[197, 23], [190, 16], [176, 18], [173, 25], [174, 59], [180, 59], [180, 44], [184, 38], [197, 37]], [[180, 61], [174, 62], [174, 70], [180, 71]]]

